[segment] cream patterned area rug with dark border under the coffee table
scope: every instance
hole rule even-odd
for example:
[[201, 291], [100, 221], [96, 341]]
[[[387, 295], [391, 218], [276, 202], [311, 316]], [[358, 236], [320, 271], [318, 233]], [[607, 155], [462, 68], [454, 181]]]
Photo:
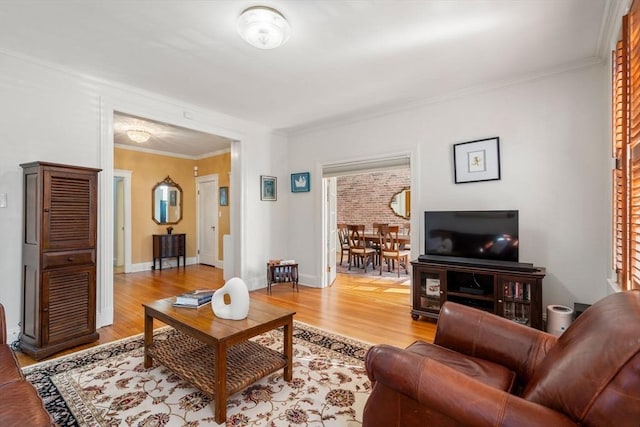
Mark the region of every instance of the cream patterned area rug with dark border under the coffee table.
[[[166, 339], [175, 330], [155, 331]], [[227, 401], [227, 426], [359, 426], [371, 384], [367, 344], [308, 325], [294, 325], [293, 380], [282, 370]], [[282, 349], [282, 331], [254, 338]], [[23, 369], [60, 426], [206, 426], [212, 400], [167, 368], [143, 366], [143, 336], [84, 350]]]

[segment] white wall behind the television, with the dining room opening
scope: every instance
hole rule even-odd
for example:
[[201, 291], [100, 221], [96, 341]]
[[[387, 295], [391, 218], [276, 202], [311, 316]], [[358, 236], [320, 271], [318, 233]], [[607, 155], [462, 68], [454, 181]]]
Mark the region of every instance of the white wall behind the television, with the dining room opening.
[[[290, 209], [319, 221], [324, 163], [411, 152], [414, 233], [423, 235], [425, 210], [518, 209], [520, 260], [547, 268], [544, 304], [592, 303], [605, 295], [610, 268], [608, 75], [596, 65], [292, 135], [291, 170], [315, 174], [312, 193], [291, 198]], [[454, 184], [453, 144], [494, 136], [501, 180]], [[290, 226], [290, 248], [305, 251], [301, 268], [319, 284], [321, 233]]]

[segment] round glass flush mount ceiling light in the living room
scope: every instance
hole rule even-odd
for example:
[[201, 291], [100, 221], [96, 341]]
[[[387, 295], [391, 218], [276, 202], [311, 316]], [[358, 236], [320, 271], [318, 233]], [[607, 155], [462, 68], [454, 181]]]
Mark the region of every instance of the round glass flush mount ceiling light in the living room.
[[273, 49], [287, 42], [291, 28], [277, 10], [267, 6], [253, 6], [238, 18], [238, 33], [251, 46]]

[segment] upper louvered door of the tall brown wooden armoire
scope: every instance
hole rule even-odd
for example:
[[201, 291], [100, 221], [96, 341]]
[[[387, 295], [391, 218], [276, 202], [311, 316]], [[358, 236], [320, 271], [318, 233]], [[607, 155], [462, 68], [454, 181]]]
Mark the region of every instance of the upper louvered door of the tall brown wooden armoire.
[[43, 179], [42, 249], [94, 247], [97, 176], [45, 170]]

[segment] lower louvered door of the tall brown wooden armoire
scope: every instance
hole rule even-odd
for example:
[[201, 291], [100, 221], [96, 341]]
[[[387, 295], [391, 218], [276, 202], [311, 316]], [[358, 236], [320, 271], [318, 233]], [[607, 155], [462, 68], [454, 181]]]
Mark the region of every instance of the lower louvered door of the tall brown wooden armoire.
[[95, 284], [95, 268], [90, 266], [42, 274], [44, 346], [95, 332]]

